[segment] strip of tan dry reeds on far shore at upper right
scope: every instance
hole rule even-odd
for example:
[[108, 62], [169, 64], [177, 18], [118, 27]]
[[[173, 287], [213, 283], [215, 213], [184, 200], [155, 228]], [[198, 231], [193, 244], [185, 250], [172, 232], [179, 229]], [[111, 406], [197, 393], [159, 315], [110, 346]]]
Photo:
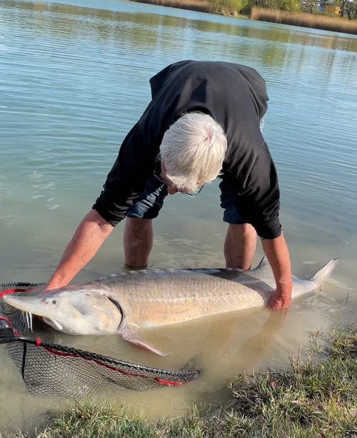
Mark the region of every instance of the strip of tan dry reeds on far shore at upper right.
[[323, 16], [307, 14], [306, 12], [279, 11], [277, 9], [263, 9], [254, 6], [251, 9], [251, 19], [270, 21], [271, 23], [290, 24], [326, 31], [357, 34], [357, 20], [342, 19], [339, 16]]

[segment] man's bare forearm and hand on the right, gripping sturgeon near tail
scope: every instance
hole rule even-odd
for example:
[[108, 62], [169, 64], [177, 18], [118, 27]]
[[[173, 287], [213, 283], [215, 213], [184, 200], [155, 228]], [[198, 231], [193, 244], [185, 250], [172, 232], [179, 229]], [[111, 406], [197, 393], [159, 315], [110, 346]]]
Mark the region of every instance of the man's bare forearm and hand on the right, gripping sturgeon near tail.
[[276, 294], [268, 306], [273, 309], [288, 307], [291, 304], [293, 282], [290, 256], [283, 234], [276, 239], [261, 239], [261, 243], [276, 281]]

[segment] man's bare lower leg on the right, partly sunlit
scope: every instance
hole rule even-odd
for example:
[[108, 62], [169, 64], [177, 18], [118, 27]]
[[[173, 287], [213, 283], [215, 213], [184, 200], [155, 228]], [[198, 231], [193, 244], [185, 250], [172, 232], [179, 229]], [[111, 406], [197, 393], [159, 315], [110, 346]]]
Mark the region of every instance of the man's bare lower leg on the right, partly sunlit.
[[255, 252], [256, 230], [251, 224], [229, 224], [224, 242], [226, 267], [250, 269]]

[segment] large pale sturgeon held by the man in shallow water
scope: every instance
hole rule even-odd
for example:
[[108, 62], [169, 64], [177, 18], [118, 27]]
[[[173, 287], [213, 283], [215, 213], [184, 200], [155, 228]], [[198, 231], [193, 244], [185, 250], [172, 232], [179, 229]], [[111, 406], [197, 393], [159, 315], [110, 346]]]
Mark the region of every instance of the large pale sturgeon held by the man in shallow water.
[[[331, 259], [311, 280], [293, 279], [293, 299], [320, 287], [338, 259]], [[276, 283], [266, 257], [256, 269], [154, 269], [102, 277], [35, 297], [4, 295], [4, 302], [35, 314], [69, 334], [115, 334], [158, 350], [137, 339], [144, 327], [223, 314], [268, 304]]]

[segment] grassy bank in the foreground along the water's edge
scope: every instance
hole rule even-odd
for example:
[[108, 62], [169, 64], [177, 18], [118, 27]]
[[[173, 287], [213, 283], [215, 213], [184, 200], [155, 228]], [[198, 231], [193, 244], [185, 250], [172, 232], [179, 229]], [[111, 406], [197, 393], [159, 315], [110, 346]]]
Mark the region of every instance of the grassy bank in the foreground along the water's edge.
[[220, 412], [147, 422], [108, 404], [77, 404], [37, 438], [356, 438], [357, 329], [313, 337], [306, 361], [244, 375]]

